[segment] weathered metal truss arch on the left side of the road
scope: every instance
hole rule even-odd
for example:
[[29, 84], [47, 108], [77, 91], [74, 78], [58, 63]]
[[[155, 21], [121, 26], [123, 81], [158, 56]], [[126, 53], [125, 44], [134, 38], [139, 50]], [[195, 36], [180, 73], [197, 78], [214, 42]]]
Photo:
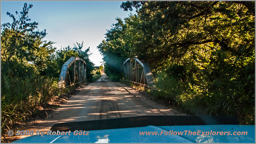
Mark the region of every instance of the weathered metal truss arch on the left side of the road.
[[[76, 62], [77, 61], [77, 62]], [[68, 69], [72, 68], [72, 77]], [[72, 80], [71, 80], [72, 79]], [[71, 57], [61, 68], [58, 86], [67, 87], [86, 81], [86, 63], [82, 58]]]

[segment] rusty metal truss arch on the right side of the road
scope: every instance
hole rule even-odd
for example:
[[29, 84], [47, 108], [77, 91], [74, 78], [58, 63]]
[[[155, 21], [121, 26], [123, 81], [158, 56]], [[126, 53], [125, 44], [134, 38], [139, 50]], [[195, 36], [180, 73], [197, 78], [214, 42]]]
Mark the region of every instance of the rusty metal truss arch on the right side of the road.
[[[134, 66], [134, 67], [133, 67]], [[154, 80], [149, 65], [143, 60], [127, 58], [122, 66], [124, 80], [154, 88]]]

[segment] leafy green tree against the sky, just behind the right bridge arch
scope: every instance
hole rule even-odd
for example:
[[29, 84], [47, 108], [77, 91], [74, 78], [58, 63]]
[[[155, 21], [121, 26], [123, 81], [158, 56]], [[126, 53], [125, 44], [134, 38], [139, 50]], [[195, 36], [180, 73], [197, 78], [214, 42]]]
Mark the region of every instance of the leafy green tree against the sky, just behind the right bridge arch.
[[105, 34], [106, 41], [103, 40], [97, 48], [105, 61], [105, 73], [113, 80], [118, 81], [122, 77], [120, 74], [121, 67], [130, 50], [129, 45], [126, 45], [124, 41], [126, 25], [120, 18], [116, 18], [116, 20], [117, 23], [113, 24], [112, 28]]

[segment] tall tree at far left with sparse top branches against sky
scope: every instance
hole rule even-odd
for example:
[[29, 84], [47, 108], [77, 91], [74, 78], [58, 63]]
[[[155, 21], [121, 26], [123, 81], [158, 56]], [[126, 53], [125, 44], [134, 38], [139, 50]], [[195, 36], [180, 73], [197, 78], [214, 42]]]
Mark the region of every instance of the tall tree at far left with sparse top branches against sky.
[[[28, 18], [28, 11], [32, 6], [32, 4], [25, 3], [20, 14], [16, 11], [16, 15], [19, 15], [18, 18], [7, 12], [13, 22], [1, 25], [3, 30], [1, 33], [2, 73], [5, 73], [7, 69], [12, 69], [16, 64], [27, 65], [43, 71], [49, 62], [48, 58], [56, 49], [52, 47], [53, 42], [43, 41], [46, 36], [45, 30], [35, 31], [38, 23], [29, 23], [31, 19]], [[10, 72], [8, 73], [10, 74]]]

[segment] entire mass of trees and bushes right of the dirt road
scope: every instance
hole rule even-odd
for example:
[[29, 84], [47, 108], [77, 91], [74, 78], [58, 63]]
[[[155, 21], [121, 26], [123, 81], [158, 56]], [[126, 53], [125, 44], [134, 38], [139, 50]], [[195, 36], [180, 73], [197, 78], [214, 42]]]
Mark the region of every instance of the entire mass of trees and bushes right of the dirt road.
[[148, 61], [149, 93], [189, 114], [255, 124], [255, 2], [128, 1], [98, 46], [105, 73], [122, 80], [126, 58]]

